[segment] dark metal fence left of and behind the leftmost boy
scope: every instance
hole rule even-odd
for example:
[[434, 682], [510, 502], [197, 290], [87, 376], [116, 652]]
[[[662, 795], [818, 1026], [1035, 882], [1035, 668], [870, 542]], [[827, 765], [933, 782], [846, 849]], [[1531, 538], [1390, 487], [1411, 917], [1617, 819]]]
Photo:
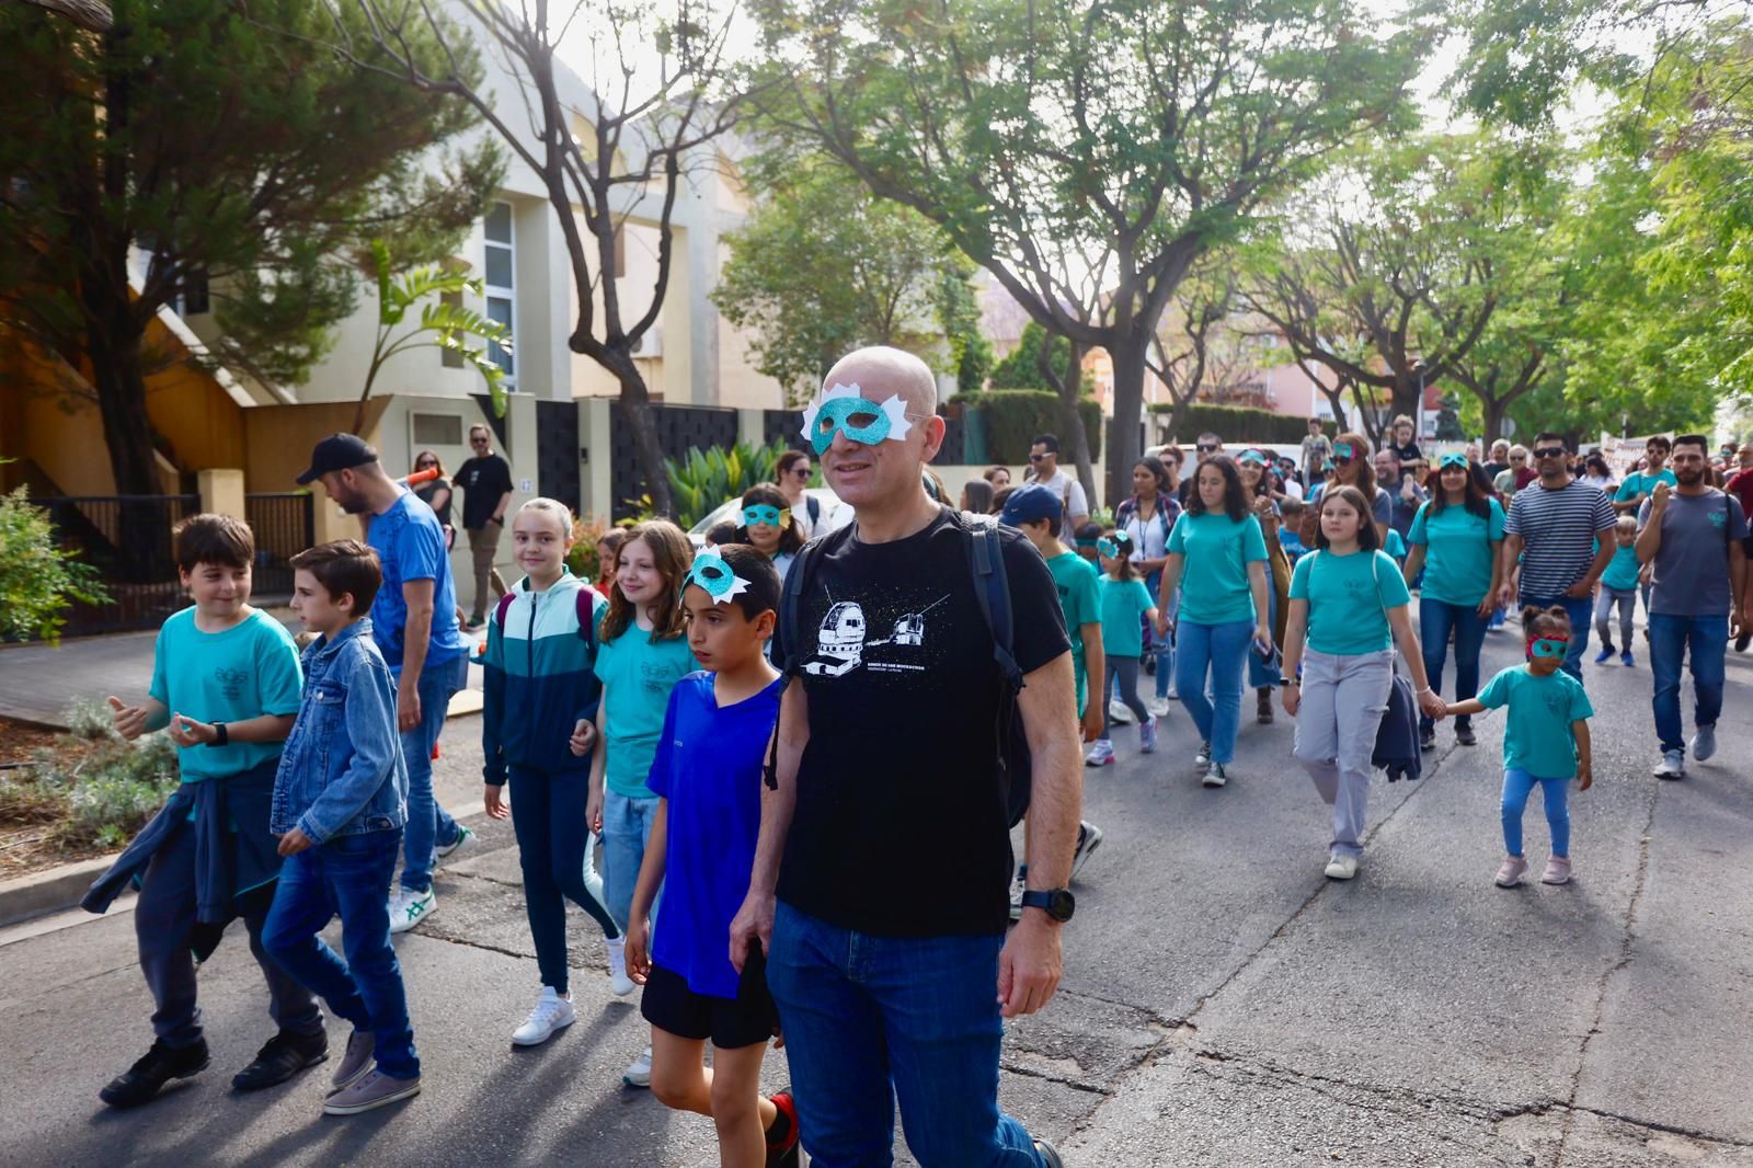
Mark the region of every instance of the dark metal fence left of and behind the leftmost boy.
[[202, 509], [198, 495], [77, 495], [32, 498], [49, 512], [61, 547], [98, 570], [109, 602], [74, 603], [63, 633], [154, 628], [182, 609], [170, 530]]

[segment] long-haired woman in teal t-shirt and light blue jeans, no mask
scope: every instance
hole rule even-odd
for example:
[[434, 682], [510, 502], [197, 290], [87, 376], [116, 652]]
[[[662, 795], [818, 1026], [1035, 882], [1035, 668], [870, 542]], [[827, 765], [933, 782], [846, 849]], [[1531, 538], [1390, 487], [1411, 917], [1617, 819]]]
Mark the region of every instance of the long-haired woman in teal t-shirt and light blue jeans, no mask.
[[[1157, 593], [1157, 633], [1167, 635], [1169, 598], [1182, 589], [1175, 623], [1175, 687], [1204, 745], [1194, 759], [1204, 786], [1229, 782], [1241, 723], [1241, 668], [1252, 647], [1273, 651], [1266, 600], [1266, 537], [1253, 517], [1236, 459], [1199, 463], [1187, 510], [1169, 531], [1169, 559]], [[1211, 693], [1206, 696], [1206, 677]]]

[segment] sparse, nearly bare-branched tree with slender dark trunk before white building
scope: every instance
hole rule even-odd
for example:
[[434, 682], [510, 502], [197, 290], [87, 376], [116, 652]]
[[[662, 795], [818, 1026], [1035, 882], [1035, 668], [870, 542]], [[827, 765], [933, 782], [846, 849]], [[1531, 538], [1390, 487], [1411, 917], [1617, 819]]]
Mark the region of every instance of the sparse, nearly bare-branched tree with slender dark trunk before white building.
[[[675, 19], [631, 5], [559, 5], [531, 0], [454, 0], [465, 30], [436, 5], [412, 0], [335, 0], [365, 28], [335, 30], [331, 49], [356, 67], [396, 77], [412, 95], [451, 95], [473, 107], [500, 142], [547, 191], [571, 268], [577, 317], [566, 347], [591, 358], [621, 386], [617, 409], [633, 431], [643, 488], [656, 514], [673, 510], [670, 477], [636, 354], [663, 314], [675, 261], [675, 205], [696, 170], [715, 168], [717, 139], [742, 118], [727, 86], [729, 18], [682, 5]], [[438, 60], [412, 51], [436, 40]], [[584, 93], [559, 61], [584, 61]], [[470, 44], [486, 44], [512, 93], [500, 95], [463, 68]], [[656, 54], [656, 61], [647, 56]], [[578, 109], [582, 105], [582, 109]], [[517, 109], [514, 116], [510, 110]], [[657, 231], [657, 267], [642, 302], [622, 300], [615, 256], [631, 221]]]

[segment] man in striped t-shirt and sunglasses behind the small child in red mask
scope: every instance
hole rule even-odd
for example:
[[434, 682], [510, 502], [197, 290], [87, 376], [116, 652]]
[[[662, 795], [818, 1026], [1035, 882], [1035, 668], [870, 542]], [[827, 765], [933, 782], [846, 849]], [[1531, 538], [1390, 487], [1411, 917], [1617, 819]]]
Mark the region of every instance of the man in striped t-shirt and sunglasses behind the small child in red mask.
[[1571, 614], [1571, 651], [1564, 670], [1583, 680], [1590, 598], [1613, 559], [1613, 503], [1606, 491], [1571, 477], [1564, 437], [1534, 438], [1539, 479], [1516, 491], [1504, 523], [1502, 603], [1558, 605]]

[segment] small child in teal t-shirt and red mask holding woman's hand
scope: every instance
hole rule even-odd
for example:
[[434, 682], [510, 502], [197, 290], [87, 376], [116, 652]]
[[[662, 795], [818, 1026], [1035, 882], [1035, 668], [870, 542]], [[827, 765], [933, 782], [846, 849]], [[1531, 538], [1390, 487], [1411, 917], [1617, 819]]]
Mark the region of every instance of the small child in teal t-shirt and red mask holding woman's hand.
[[1504, 863], [1497, 868], [1497, 886], [1515, 887], [1529, 861], [1522, 854], [1522, 812], [1539, 784], [1546, 796], [1546, 826], [1551, 830], [1551, 858], [1546, 859], [1543, 884], [1571, 879], [1571, 779], [1586, 791], [1593, 777], [1588, 703], [1583, 682], [1565, 673], [1564, 654], [1571, 647], [1571, 617], [1564, 609], [1525, 609], [1522, 628], [1529, 638], [1529, 661], [1516, 665], [1480, 691], [1473, 702], [1457, 702], [1450, 714], [1481, 714], [1509, 707], [1504, 719]]

